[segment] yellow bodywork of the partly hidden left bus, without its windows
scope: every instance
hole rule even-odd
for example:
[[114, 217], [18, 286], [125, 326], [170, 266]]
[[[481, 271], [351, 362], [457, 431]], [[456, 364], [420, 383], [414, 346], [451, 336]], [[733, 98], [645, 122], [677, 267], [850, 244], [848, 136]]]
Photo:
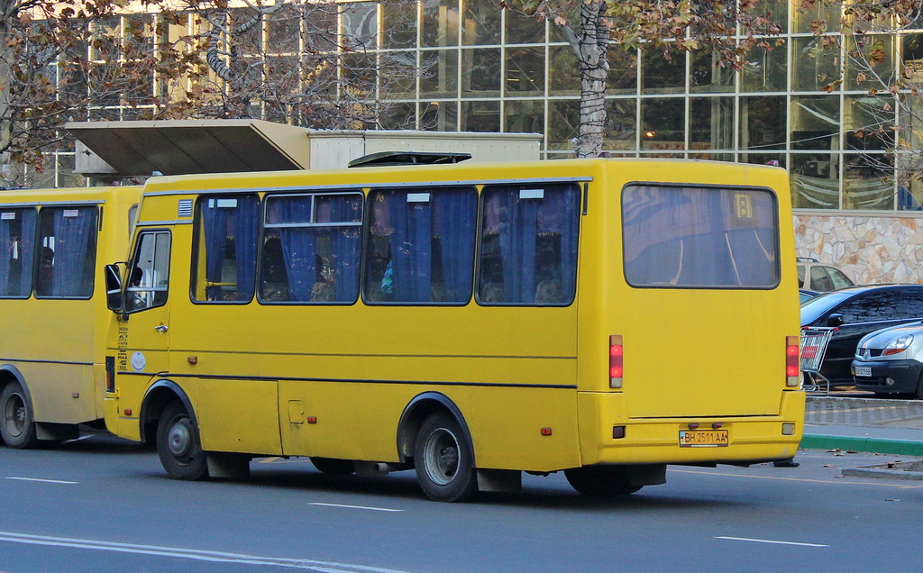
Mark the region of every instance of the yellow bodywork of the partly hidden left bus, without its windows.
[[[94, 211], [90, 265], [125, 257], [131, 209], [140, 196], [139, 186], [7, 190], [0, 193], [0, 212]], [[87, 296], [37, 296], [35, 280], [26, 296], [0, 296], [0, 390], [11, 384], [23, 390], [38, 439], [76, 437], [77, 424], [102, 421], [106, 338], [114, 316], [106, 309], [102, 275], [92, 275]], [[15, 411], [10, 408], [4, 424]]]

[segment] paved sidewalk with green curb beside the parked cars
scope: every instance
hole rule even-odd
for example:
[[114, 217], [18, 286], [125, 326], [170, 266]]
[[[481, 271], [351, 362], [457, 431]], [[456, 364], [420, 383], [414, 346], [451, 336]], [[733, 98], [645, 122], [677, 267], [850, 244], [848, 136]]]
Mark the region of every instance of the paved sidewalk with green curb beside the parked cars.
[[801, 448], [923, 456], [923, 400], [809, 396]]

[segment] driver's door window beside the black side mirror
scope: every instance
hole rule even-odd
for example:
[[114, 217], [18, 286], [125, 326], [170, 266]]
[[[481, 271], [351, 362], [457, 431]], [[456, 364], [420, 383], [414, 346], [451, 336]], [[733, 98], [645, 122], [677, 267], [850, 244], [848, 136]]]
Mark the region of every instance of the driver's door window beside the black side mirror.
[[170, 276], [170, 233], [154, 231], [138, 236], [126, 287], [126, 311], [138, 312], [167, 302]]

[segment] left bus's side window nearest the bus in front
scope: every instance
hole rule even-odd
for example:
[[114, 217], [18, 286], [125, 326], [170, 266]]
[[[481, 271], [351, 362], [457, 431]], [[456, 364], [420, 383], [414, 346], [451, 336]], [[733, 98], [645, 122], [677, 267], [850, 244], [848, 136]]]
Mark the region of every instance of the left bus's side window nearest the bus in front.
[[96, 261], [96, 207], [39, 211], [39, 298], [90, 298]]

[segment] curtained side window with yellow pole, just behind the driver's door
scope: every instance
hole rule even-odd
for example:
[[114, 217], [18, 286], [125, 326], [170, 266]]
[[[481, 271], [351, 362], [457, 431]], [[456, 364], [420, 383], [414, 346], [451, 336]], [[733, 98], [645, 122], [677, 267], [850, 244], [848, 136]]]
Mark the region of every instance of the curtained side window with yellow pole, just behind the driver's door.
[[257, 281], [259, 198], [209, 196], [198, 201], [192, 298], [246, 303]]

